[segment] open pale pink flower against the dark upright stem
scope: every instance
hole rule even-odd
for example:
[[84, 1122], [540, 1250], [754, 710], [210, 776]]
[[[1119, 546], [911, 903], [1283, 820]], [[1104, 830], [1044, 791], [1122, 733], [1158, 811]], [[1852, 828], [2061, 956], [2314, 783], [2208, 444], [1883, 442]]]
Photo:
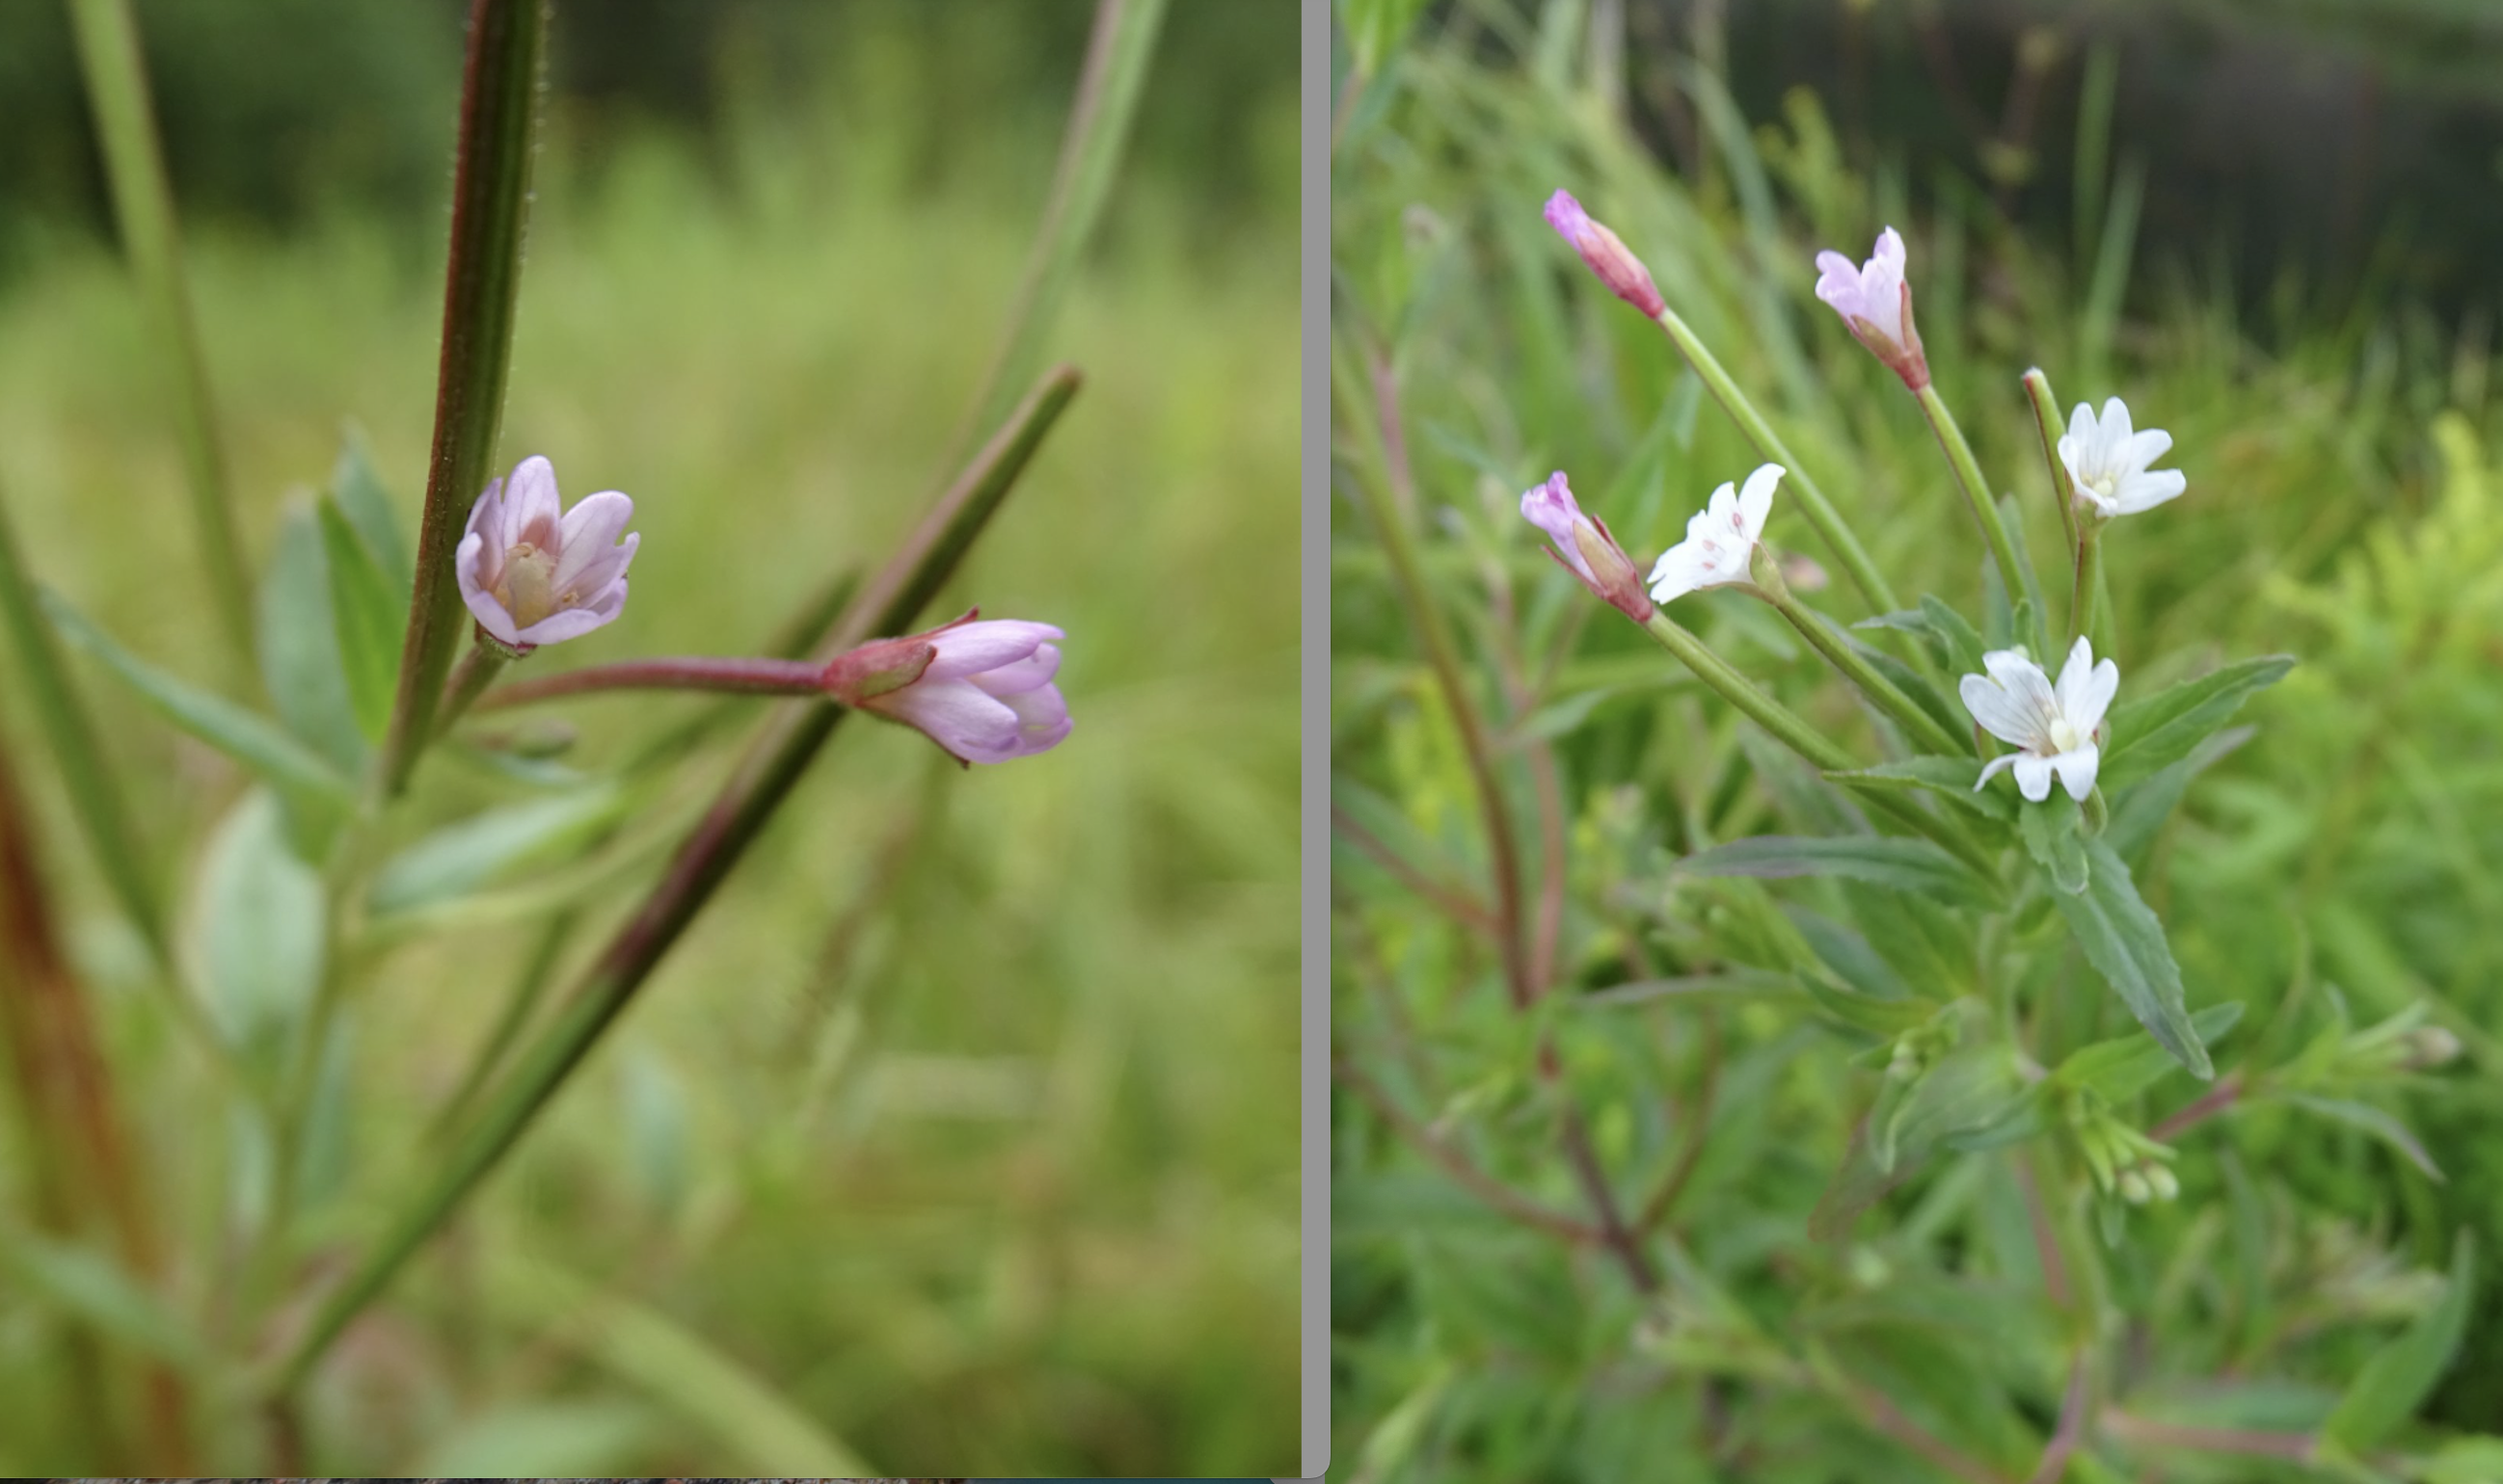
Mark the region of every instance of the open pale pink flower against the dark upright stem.
[[533, 453], [471, 508], [468, 533], [453, 551], [461, 601], [481, 628], [516, 651], [581, 638], [626, 608], [626, 563], [643, 541], [626, 533], [628, 521], [633, 501], [618, 490], [563, 511], [556, 465]]

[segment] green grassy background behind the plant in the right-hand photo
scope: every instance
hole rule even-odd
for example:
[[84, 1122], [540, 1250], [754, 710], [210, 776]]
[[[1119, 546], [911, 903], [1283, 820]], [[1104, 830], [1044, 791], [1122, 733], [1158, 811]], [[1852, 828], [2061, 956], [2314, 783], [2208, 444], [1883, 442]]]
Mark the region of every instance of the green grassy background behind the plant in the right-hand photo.
[[[1349, 0], [1337, 48], [1334, 1476], [2503, 1479], [2493, 13]], [[2280, 95], [2235, 118], [2263, 75]], [[2320, 153], [2310, 115], [2275, 135], [2320, 95], [2383, 133], [2343, 133], [2355, 158]], [[1980, 543], [1912, 400], [1812, 298], [1817, 248], [1857, 260], [1902, 228], [1937, 385], [2032, 553], [2060, 526], [2027, 365], [2062, 410], [2123, 395], [2168, 428], [2188, 493], [2108, 538], [2123, 698], [2228, 656], [2298, 658], [2143, 878], [2190, 1004], [2245, 1006], [2220, 1069], [2300, 1086], [2315, 1036], [2418, 1004], [2463, 1044], [2345, 1119], [2260, 1101], [2180, 1136], [2183, 1199], [2100, 1254], [2125, 1324], [2095, 1371], [2108, 1426], [2065, 1471], [2035, 1471], [2067, 1361], [2007, 1156], [1950, 1161], [1812, 1239], [1880, 1071], [1795, 1004], [1672, 994], [1710, 973], [1695, 943], [1717, 928], [1677, 856], [1802, 833], [1820, 803], [1519, 521], [1519, 490], [1562, 468], [1647, 563], [1757, 463], [1539, 220], [1557, 188], [1644, 258], [1907, 596], [1972, 611]], [[1534, 881], [1559, 881], [1537, 1016], [1504, 1009], [1449, 906], [1487, 893], [1484, 826], [1367, 483], [1487, 698], [1522, 848], [1552, 873]], [[1825, 558], [1780, 503], [1770, 541]], [[1840, 578], [1812, 603], [1862, 616]], [[1677, 618], [1847, 723], [1752, 603]], [[1657, 1304], [1452, 1174], [1589, 1214], [1532, 1029], [1554, 1034], [1619, 1199], [1654, 1214]], [[2135, 1124], [2198, 1091], [2173, 1079]], [[2448, 1369], [2373, 1459], [2308, 1456], [2368, 1356], [2448, 1291], [2460, 1234], [2480, 1269]], [[1865, 1386], [1857, 1409], [1800, 1379], [1817, 1351]]]

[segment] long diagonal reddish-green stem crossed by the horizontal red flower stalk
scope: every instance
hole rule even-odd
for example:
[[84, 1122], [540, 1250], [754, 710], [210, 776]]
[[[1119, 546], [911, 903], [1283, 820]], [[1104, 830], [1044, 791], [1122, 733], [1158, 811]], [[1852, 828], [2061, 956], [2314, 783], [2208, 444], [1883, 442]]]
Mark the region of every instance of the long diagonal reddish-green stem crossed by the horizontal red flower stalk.
[[[929, 606], [964, 561], [974, 538], [999, 511], [1024, 473], [1044, 435], [1076, 395], [1079, 375], [1059, 368], [1026, 398], [981, 455], [964, 470], [904, 548], [869, 583], [854, 611], [826, 641], [831, 653], [856, 646], [871, 633], [901, 633]], [[461, 1134], [443, 1164], [423, 1179], [415, 1196], [390, 1221], [383, 1239], [350, 1276], [333, 1289], [295, 1346], [280, 1359], [268, 1394], [288, 1394], [330, 1349], [350, 1319], [370, 1304], [415, 1249], [468, 1199], [481, 1179], [528, 1131], [538, 1111], [556, 1096], [573, 1069], [588, 1056], [633, 994], [646, 983], [696, 913], [713, 898], [746, 848], [791, 796], [801, 773], [816, 758], [846, 708], [828, 701], [793, 701], [781, 723], [761, 738], [746, 766], [678, 846], [668, 873], [626, 918], [601, 956], [576, 983], [546, 1034], [516, 1061], [513, 1074], [491, 1094], [476, 1124]]]

